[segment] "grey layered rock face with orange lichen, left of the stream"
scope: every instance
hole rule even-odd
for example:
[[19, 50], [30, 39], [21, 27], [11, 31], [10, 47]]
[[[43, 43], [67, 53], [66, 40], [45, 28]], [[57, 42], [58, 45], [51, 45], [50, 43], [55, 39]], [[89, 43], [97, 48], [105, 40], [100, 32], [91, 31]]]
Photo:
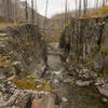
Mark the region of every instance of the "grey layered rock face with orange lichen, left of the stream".
[[8, 27], [4, 32], [0, 35], [0, 75], [40, 77], [46, 65], [46, 45], [38, 27], [25, 24]]

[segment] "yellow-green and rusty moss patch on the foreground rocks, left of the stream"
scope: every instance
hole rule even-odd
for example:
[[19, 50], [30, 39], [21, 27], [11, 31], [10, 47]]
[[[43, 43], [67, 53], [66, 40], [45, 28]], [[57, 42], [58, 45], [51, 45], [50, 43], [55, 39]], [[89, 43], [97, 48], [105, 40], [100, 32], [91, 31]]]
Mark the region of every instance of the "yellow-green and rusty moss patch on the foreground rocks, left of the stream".
[[[54, 92], [51, 84], [48, 82], [38, 81], [36, 78], [19, 78], [13, 82], [22, 90], [32, 90], [32, 91], [45, 91], [45, 92]], [[38, 87], [40, 85], [40, 87]]]

